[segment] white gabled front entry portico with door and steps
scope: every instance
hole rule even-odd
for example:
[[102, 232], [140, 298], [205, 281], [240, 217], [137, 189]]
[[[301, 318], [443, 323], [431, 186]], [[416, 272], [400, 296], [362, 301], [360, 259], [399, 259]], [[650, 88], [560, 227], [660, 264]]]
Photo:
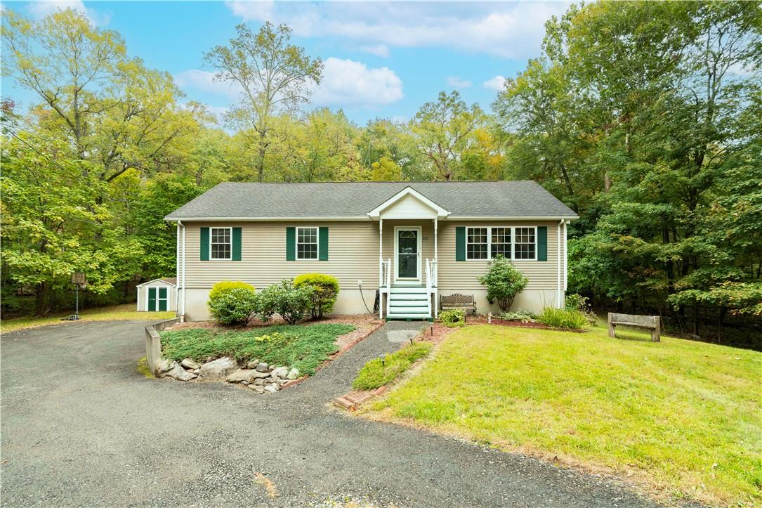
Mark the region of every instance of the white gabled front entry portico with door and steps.
[[370, 219], [379, 221], [380, 318], [385, 308], [387, 319], [436, 317], [437, 228], [448, 215], [449, 211], [411, 187], [368, 212]]

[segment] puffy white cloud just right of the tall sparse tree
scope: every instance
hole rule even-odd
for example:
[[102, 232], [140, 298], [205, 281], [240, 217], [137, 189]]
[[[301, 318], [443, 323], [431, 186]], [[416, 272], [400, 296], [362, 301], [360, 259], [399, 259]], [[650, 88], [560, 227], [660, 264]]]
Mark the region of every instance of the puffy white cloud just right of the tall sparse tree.
[[388, 67], [369, 68], [354, 60], [325, 59], [323, 79], [312, 91], [321, 106], [373, 108], [402, 98], [402, 79]]

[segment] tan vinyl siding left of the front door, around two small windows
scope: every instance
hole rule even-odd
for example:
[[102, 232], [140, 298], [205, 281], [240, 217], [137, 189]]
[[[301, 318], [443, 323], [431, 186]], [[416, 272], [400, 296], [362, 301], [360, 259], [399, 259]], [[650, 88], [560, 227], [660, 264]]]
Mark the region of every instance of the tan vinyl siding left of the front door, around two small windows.
[[[338, 278], [342, 289], [378, 287], [378, 223], [367, 222], [244, 222], [186, 223], [186, 284], [211, 288], [217, 281], [245, 281], [256, 288], [303, 273], [320, 272]], [[241, 227], [241, 261], [200, 261], [201, 227]], [[328, 227], [328, 261], [286, 261], [287, 227]]]

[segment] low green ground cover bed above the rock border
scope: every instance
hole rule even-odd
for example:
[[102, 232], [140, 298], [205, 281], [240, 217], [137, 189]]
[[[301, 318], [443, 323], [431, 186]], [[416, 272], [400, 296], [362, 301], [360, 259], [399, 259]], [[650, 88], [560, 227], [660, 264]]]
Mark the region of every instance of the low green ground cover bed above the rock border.
[[[259, 358], [262, 362], [296, 367], [302, 374], [313, 375], [315, 368], [338, 350], [336, 338], [354, 330], [344, 324], [314, 324], [307, 326], [265, 326], [245, 332], [228, 332], [208, 328], [159, 332], [162, 355], [197, 362], [209, 356], [231, 356], [235, 359]], [[274, 336], [273, 334], [278, 335]], [[261, 336], [274, 340], [257, 340]]]

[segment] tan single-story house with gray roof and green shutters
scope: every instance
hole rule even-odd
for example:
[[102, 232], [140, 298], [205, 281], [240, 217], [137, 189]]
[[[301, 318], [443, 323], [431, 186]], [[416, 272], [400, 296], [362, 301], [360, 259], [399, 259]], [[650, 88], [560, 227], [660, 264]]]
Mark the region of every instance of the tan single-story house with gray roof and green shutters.
[[435, 316], [440, 294], [485, 301], [477, 278], [499, 254], [529, 284], [514, 308], [560, 306], [566, 228], [578, 218], [532, 181], [222, 183], [173, 211], [178, 314], [207, 320], [217, 281], [264, 288], [307, 272], [338, 278], [335, 313]]

